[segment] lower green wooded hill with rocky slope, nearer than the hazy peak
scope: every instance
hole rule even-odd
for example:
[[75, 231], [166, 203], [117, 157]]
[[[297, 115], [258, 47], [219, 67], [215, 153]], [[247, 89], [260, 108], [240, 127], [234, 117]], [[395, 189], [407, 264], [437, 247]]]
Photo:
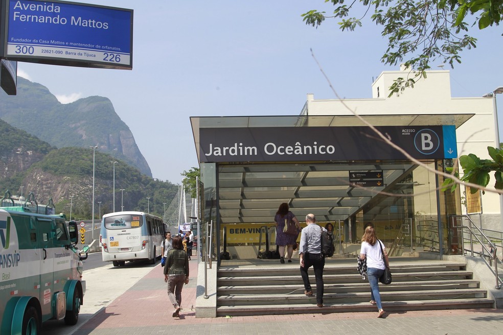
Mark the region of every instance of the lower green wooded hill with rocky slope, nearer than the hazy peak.
[[[95, 154], [95, 213], [113, 211], [113, 171], [108, 154]], [[26, 197], [33, 193], [41, 205], [53, 200], [56, 212], [69, 218], [90, 219], [93, 199], [93, 150], [56, 149], [0, 120], [0, 195], [7, 190]], [[121, 191], [124, 189], [124, 192]], [[178, 186], [152, 179], [119, 160], [115, 167], [116, 211], [149, 210], [162, 216], [164, 203], [171, 203]], [[124, 196], [124, 197], [123, 197]], [[147, 200], [147, 197], [149, 200]]]

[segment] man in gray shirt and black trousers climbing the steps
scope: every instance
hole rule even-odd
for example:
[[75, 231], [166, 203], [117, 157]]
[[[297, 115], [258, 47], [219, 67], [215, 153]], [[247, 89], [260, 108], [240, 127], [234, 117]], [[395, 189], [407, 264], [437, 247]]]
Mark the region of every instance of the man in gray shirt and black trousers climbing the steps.
[[307, 270], [312, 266], [316, 279], [316, 305], [323, 307], [323, 268], [325, 257], [322, 255], [322, 227], [316, 224], [314, 214], [307, 214], [307, 227], [302, 229], [299, 254], [301, 259], [301, 276], [304, 281], [304, 294], [313, 295]]

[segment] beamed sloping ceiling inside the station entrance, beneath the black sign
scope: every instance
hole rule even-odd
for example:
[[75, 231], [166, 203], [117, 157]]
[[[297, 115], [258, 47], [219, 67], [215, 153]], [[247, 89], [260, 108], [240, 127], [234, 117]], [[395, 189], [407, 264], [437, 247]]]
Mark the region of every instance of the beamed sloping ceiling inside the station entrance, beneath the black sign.
[[[222, 223], [270, 223], [281, 203], [304, 221], [345, 220], [374, 196], [407, 175], [413, 165], [257, 164], [219, 165], [219, 212]], [[352, 186], [349, 171], [382, 171], [383, 185]]]

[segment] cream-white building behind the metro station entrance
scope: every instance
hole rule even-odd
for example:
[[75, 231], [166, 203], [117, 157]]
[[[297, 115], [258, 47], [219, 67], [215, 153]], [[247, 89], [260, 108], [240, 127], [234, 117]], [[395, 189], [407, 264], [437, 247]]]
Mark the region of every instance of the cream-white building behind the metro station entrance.
[[[493, 98], [451, 98], [448, 70], [427, 71], [414, 88], [388, 98], [389, 87], [396, 78], [410, 76], [408, 70], [384, 71], [372, 84], [371, 99], [315, 100], [307, 94], [302, 114], [313, 115], [407, 115], [407, 114], [474, 114], [456, 130], [458, 155], [476, 154], [490, 158], [487, 147], [499, 147], [496, 142]], [[341, 126], [350, 126], [341, 125]], [[379, 126], [374, 124], [374, 126]], [[494, 185], [494, 177], [488, 186]], [[501, 196], [486, 192], [482, 196], [483, 228], [503, 231]], [[465, 209], [463, 208], [463, 212]]]

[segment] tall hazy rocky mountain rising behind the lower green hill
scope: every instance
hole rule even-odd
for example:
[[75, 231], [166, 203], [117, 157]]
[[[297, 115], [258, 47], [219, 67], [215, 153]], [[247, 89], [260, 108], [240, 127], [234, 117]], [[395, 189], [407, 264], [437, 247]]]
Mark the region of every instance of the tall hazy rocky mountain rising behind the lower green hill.
[[17, 95], [0, 93], [0, 118], [57, 148], [98, 145], [97, 152], [108, 153], [152, 177], [133, 134], [108, 98], [95, 96], [61, 104], [47, 87], [18, 77]]

